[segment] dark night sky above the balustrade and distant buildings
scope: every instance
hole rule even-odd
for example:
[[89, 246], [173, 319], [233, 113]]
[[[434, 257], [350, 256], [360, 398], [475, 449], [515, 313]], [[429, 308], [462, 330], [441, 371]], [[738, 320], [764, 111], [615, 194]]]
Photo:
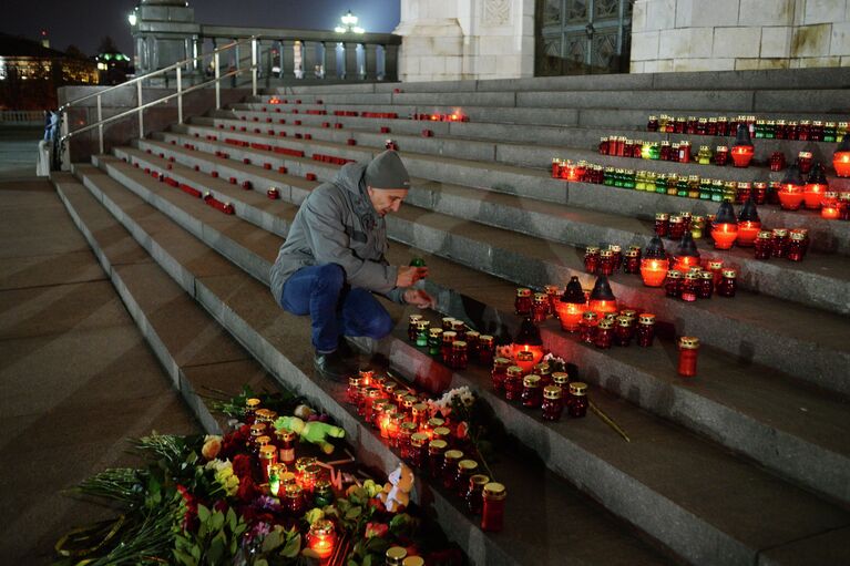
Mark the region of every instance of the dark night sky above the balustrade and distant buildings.
[[[50, 47], [75, 44], [95, 54], [100, 40], [112, 35], [133, 54], [127, 14], [135, 0], [4, 0], [0, 31], [38, 39], [48, 30]], [[389, 32], [399, 22], [399, 0], [190, 0], [198, 23], [331, 30], [351, 10], [366, 31]]]

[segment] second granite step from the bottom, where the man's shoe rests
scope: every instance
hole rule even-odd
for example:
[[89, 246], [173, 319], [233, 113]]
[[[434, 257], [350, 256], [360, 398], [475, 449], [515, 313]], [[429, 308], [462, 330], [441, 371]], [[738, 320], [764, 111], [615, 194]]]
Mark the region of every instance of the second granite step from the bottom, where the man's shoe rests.
[[[102, 165], [110, 163], [109, 158], [98, 161]], [[144, 178], [134, 169], [125, 173], [150, 185], [150, 177]], [[273, 377], [278, 382], [322, 407], [346, 429], [349, 441], [360, 449], [358, 457], [361, 461], [385, 473], [398, 465], [398, 456], [361, 423], [345, 402], [345, 385], [314, 375], [308, 320], [283, 312], [266, 285], [222, 256], [216, 263], [223, 269], [213, 274], [205, 271], [202, 265], [187, 260], [214, 254], [208, 247], [212, 233], [217, 231], [221, 237], [226, 234], [249, 245], [267, 243], [265, 237], [252, 239], [248, 231], [235, 225], [243, 220], [221, 215], [199, 200], [181, 195], [194, 205], [190, 207], [194, 208], [193, 213], [211, 222], [208, 226], [215, 226], [212, 231], [203, 234], [195, 233], [196, 228], [186, 231], [178, 228], [172, 218], [154, 209], [147, 199], [132, 194], [102, 171], [76, 166], [75, 174], [172, 278], [181, 286], [192, 282], [190, 295], [257, 362], [273, 368]], [[151, 188], [155, 191], [160, 187], [154, 184]], [[149, 195], [150, 202], [154, 203], [160, 197], [153, 191]], [[413, 494], [420, 505], [436, 513], [446, 533], [468, 552], [472, 564], [578, 565], [586, 560], [601, 560], [628, 565], [634, 560], [641, 564], [672, 562], [667, 550], [644, 539], [644, 535], [638, 535], [611, 516], [534, 459], [522, 457], [508, 450], [496, 452], [498, 457], [491, 467], [511, 490], [506, 505], [509, 526], [502, 533], [492, 535], [481, 532], [475, 522], [458, 507], [457, 497], [447, 494], [442, 486], [434, 487], [427, 478], [418, 477]], [[557, 528], [561, 521], [570, 521], [575, 528], [563, 532]], [[541, 528], [541, 525], [546, 525], [546, 528]]]

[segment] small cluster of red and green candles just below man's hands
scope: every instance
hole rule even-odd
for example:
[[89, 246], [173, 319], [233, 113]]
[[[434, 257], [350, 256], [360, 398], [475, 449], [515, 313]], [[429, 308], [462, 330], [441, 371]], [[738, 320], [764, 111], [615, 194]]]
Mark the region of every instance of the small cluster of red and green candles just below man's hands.
[[446, 366], [458, 370], [465, 369], [470, 359], [490, 366], [495, 353], [492, 336], [481, 335], [452, 317], [444, 317], [440, 327], [431, 328], [431, 322], [421, 315], [410, 315], [408, 339], [420, 348], [427, 348], [429, 354], [442, 360]]

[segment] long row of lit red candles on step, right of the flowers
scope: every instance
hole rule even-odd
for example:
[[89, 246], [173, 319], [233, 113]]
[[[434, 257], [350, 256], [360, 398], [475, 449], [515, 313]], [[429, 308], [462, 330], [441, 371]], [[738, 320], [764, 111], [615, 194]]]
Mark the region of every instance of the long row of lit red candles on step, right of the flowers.
[[430, 418], [422, 397], [407, 385], [362, 370], [348, 379], [347, 399], [404, 462], [463, 498], [472, 515], [481, 515], [482, 529], [502, 529], [505, 486], [491, 482], [475, 460], [464, 457], [449, 423]]

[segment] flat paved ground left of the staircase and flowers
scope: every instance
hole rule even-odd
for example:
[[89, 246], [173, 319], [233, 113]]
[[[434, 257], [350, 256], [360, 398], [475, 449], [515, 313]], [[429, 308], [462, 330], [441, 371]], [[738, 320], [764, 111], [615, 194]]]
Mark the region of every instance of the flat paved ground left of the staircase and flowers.
[[199, 426], [47, 181], [0, 182], [0, 563], [48, 564], [105, 510], [62, 490], [125, 439]]

